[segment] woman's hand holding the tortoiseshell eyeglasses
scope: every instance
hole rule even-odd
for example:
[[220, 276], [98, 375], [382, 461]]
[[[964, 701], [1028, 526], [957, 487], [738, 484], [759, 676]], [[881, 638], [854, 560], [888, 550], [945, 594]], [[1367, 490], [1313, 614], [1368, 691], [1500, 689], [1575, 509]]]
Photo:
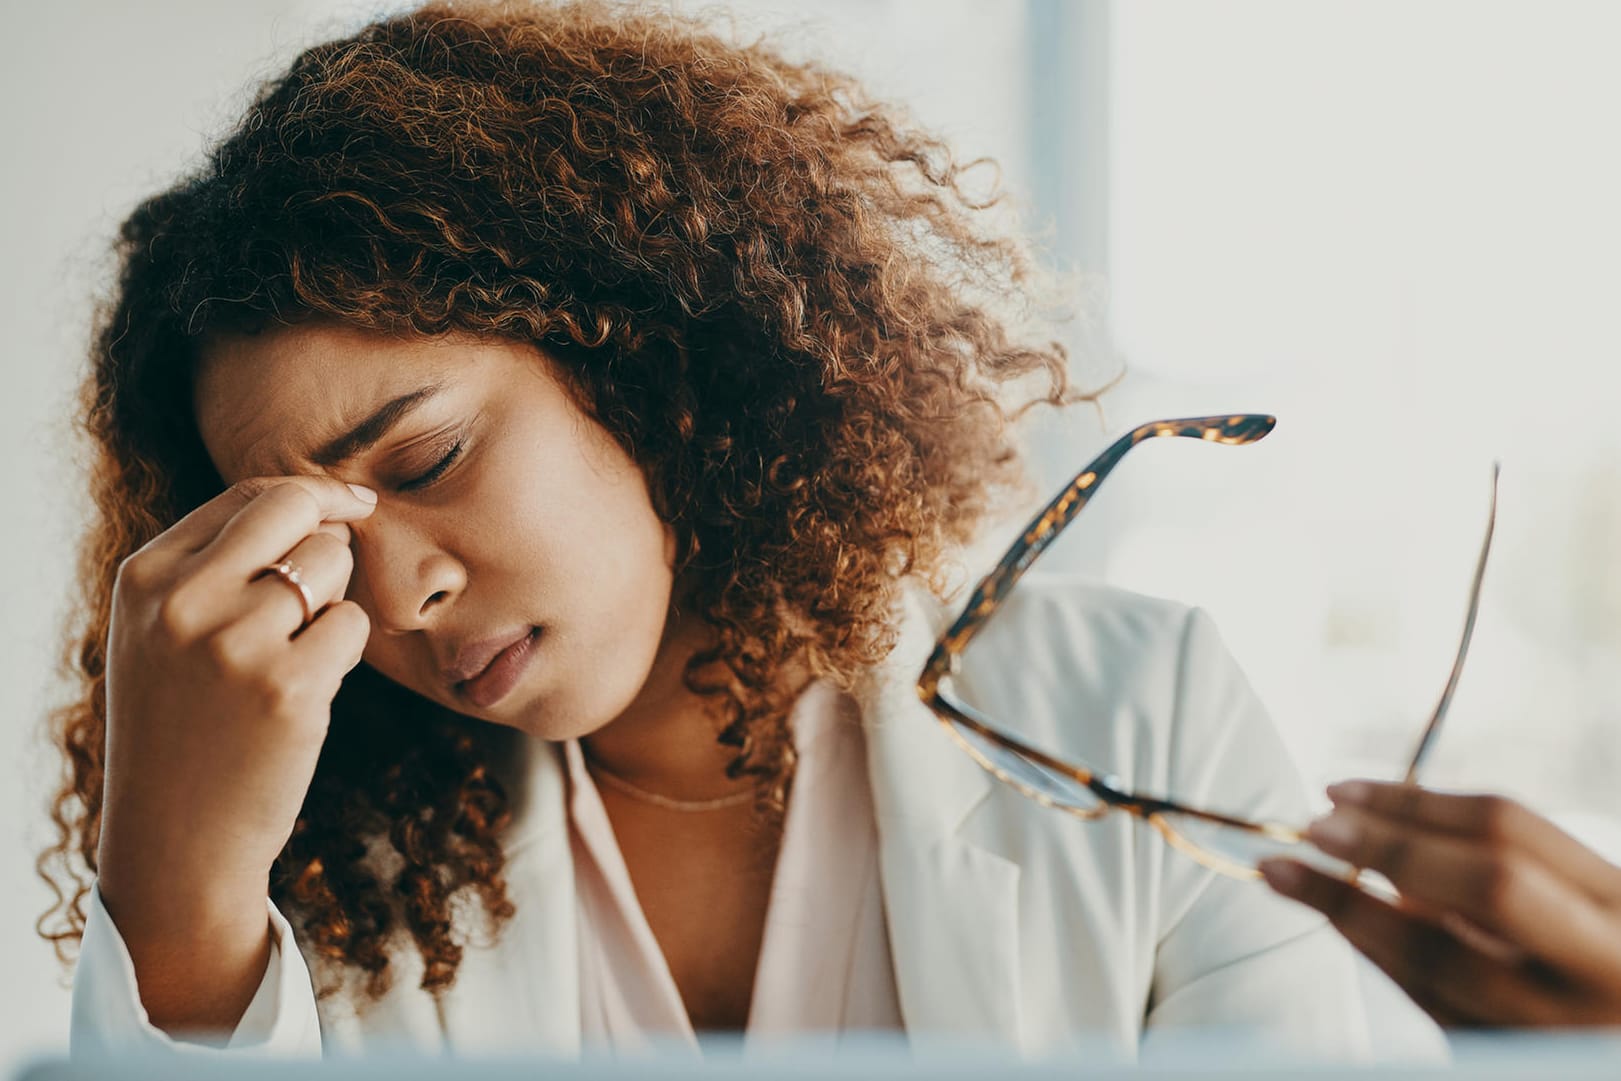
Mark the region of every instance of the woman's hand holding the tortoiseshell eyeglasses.
[[1388, 903], [1295, 861], [1261, 870], [1446, 1026], [1621, 1024], [1621, 867], [1496, 796], [1329, 788], [1311, 841], [1378, 870]]

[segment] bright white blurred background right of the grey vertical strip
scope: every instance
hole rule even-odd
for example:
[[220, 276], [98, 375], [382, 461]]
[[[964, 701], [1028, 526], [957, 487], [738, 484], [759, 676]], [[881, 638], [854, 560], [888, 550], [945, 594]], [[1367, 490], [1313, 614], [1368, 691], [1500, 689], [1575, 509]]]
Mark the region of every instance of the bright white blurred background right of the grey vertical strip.
[[1428, 780], [1621, 822], [1621, 5], [1131, 0], [1114, 29], [1120, 412], [1279, 428], [1122, 475], [1109, 577], [1209, 606], [1311, 773], [1399, 775], [1501, 457]]

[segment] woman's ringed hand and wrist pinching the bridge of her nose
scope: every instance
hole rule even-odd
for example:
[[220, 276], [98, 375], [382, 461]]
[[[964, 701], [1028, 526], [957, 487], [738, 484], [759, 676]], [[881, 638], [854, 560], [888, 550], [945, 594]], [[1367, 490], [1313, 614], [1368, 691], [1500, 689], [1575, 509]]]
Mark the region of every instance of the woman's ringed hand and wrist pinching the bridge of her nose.
[[[220, 1006], [222, 985], [251, 998], [263, 976], [269, 870], [370, 634], [344, 593], [347, 523], [374, 509], [331, 478], [248, 480], [118, 569], [97, 874], [160, 1028], [233, 1024], [246, 1000]], [[298, 590], [264, 574], [284, 559], [308, 624]]]

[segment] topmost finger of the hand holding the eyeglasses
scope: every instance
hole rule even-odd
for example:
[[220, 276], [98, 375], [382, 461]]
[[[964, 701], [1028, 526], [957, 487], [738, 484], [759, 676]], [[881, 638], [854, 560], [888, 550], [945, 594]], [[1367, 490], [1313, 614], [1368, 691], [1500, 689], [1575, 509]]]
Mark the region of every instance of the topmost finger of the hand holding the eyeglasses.
[[1415, 784], [1347, 781], [1329, 786], [1336, 805], [1355, 807], [1391, 822], [1441, 830], [1499, 848], [1533, 854], [1548, 869], [1595, 901], [1621, 903], [1621, 869], [1542, 815], [1501, 796], [1436, 793]]

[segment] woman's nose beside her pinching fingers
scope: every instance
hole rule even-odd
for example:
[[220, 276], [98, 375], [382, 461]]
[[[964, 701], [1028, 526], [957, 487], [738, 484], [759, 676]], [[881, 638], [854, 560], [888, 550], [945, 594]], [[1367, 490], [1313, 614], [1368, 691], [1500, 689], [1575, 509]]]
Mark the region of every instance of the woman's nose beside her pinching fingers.
[[467, 569], [444, 546], [400, 522], [353, 530], [349, 596], [384, 634], [423, 630], [467, 588]]

